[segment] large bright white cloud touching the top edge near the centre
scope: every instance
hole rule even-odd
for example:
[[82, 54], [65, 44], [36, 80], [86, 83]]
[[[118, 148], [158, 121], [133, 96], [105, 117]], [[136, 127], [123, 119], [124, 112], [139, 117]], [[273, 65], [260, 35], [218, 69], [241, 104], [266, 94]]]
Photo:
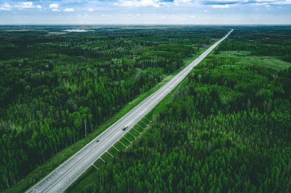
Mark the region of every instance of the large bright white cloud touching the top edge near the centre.
[[118, 0], [113, 5], [120, 7], [161, 7], [160, 0]]

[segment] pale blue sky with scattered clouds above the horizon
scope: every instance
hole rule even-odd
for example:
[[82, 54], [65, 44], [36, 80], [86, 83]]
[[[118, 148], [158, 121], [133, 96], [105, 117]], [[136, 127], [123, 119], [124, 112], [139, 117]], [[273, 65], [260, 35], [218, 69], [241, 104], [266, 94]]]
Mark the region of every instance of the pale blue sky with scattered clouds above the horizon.
[[291, 0], [0, 0], [0, 24], [291, 24]]

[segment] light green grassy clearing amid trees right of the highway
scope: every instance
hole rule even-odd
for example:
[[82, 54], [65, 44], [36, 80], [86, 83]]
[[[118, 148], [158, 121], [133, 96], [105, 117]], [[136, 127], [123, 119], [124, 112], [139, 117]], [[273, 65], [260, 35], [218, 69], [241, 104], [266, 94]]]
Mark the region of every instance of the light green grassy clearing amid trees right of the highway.
[[280, 57], [251, 56], [249, 51], [220, 51], [211, 56], [219, 58], [235, 58], [235, 65], [260, 65], [275, 70], [283, 70], [291, 66], [291, 63], [282, 61]]

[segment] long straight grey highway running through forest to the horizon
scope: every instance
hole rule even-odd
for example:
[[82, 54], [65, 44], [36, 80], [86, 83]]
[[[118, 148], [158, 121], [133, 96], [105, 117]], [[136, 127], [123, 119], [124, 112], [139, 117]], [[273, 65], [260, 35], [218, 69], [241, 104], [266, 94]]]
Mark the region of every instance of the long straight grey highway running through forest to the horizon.
[[[129, 129], [152, 110], [172, 89], [174, 89], [190, 73], [194, 66], [202, 61], [224, 38], [211, 45], [203, 54], [186, 66], [160, 89], [147, 97], [142, 103], [134, 107], [129, 113], [116, 121], [111, 127], [97, 136], [93, 141], [70, 157], [65, 163], [53, 170], [48, 176], [40, 180], [26, 193], [62, 193], [77, 178], [79, 178], [100, 156], [111, 148]], [[126, 131], [122, 131], [128, 125]], [[97, 142], [97, 140], [99, 140]]]

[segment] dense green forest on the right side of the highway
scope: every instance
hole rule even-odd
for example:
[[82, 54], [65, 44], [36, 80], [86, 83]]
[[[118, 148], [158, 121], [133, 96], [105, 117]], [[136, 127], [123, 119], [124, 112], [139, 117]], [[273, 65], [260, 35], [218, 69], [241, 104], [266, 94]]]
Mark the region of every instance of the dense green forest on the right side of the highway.
[[[290, 30], [234, 27], [153, 112], [151, 125], [130, 148], [89, 170], [68, 191], [291, 192], [291, 67], [247, 60], [272, 57], [273, 51], [283, 53], [275, 56], [279, 60], [291, 55], [278, 48], [289, 49]], [[251, 48], [256, 42], [258, 48]], [[269, 51], [259, 50], [264, 47]], [[240, 56], [243, 50], [249, 55]], [[235, 56], [226, 55], [233, 51]]]

